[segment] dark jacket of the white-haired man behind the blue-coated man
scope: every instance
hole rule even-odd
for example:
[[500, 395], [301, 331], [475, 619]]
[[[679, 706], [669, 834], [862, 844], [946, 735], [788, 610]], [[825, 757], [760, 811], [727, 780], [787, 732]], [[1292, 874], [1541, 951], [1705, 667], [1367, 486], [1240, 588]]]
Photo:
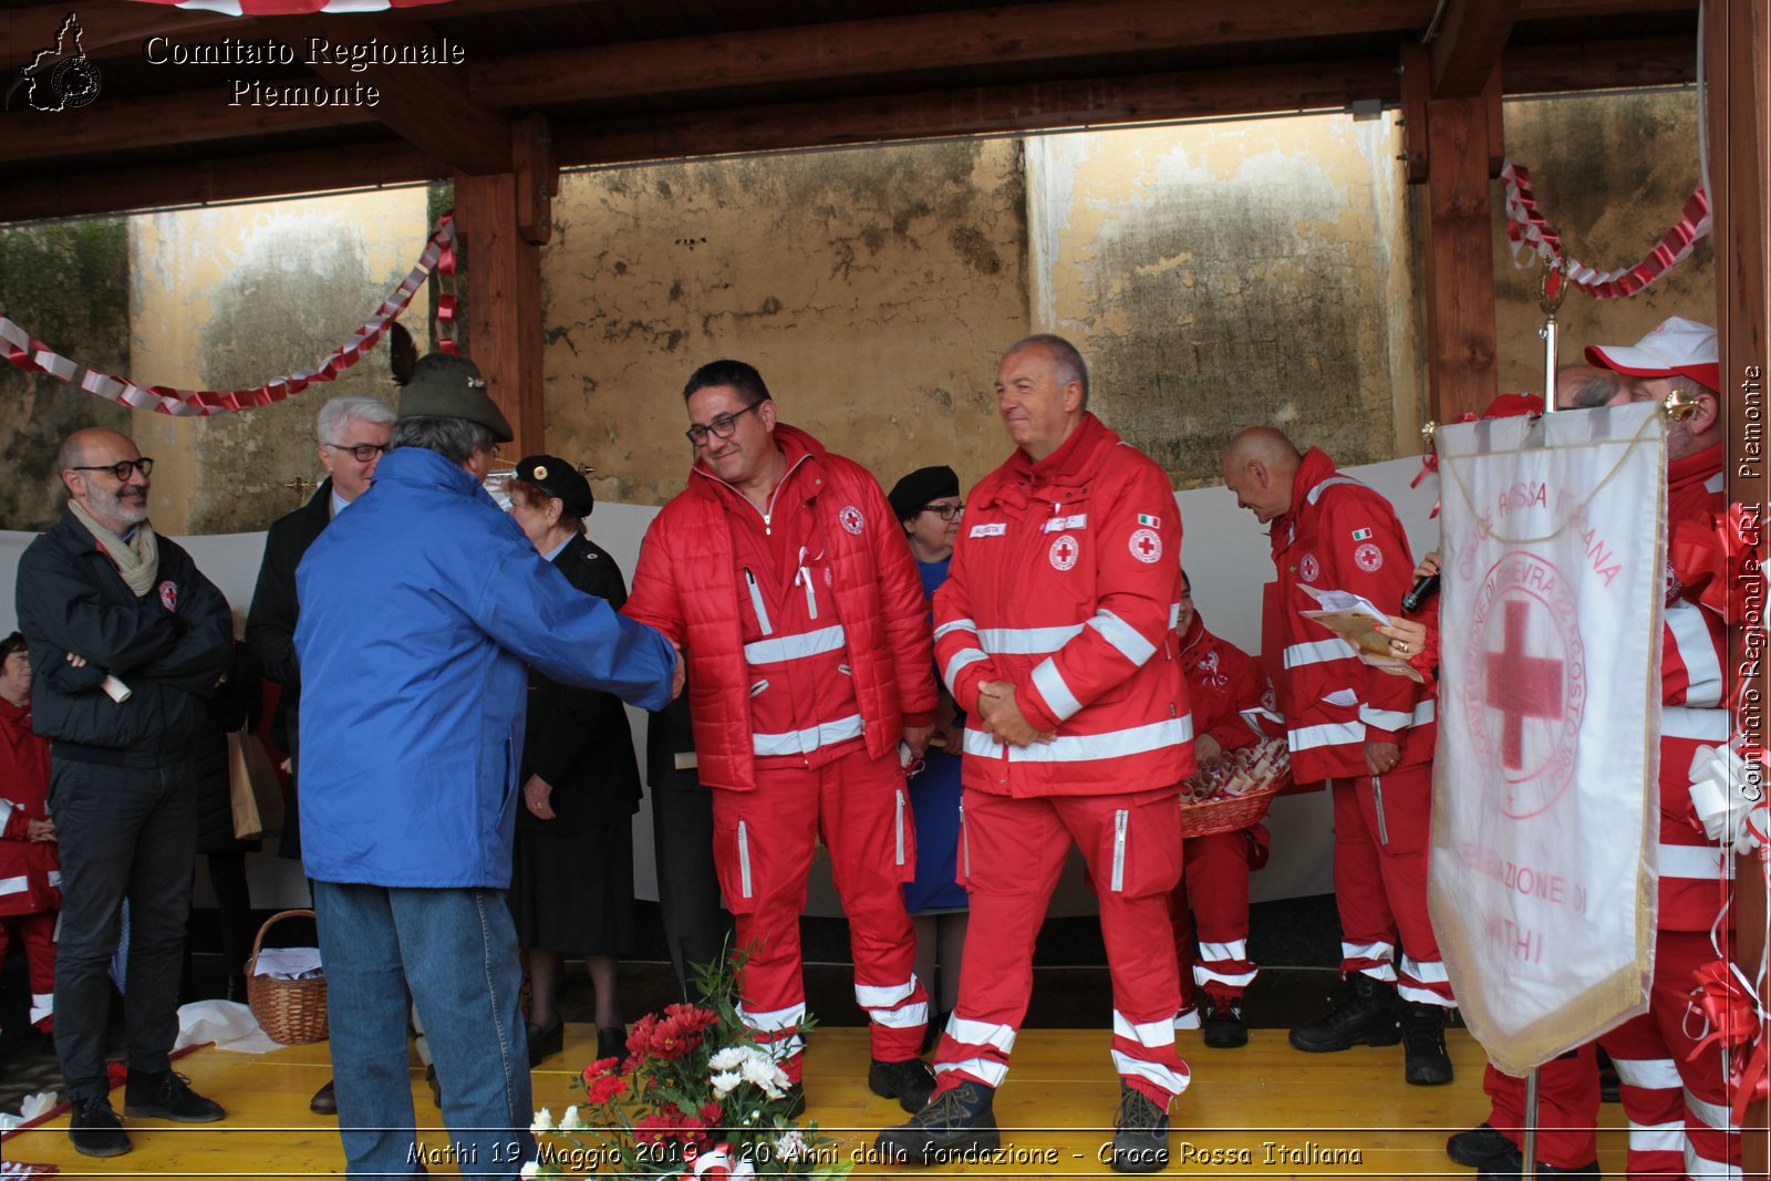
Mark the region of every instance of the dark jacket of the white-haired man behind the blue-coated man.
[[[251, 609], [246, 613], [246, 648], [264, 680], [283, 687], [271, 715], [271, 740], [290, 754], [290, 768], [299, 770], [299, 740], [296, 719], [301, 717], [301, 668], [296, 664], [296, 567], [326, 526], [331, 524], [331, 480], [321, 483], [306, 505], [278, 517], [264, 538], [264, 561], [259, 565], [259, 584], [251, 591]], [[301, 857], [301, 809], [296, 802], [296, 774], [289, 776], [289, 806], [283, 814], [283, 836], [276, 852], [282, 857]]]

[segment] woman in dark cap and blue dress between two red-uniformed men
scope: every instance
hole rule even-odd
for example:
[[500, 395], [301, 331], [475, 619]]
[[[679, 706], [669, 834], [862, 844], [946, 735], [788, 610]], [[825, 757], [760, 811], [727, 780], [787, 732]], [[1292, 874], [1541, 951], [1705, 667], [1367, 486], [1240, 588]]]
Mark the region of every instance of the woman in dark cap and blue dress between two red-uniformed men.
[[[951, 467], [919, 467], [893, 485], [886, 498], [903, 524], [903, 535], [923, 575], [923, 595], [947, 581], [953, 538], [960, 531], [960, 476]], [[933, 652], [930, 653], [933, 660]], [[935, 680], [939, 682], [939, 671]], [[946, 687], [935, 714], [935, 733], [921, 770], [910, 774], [910, 813], [916, 816], [916, 880], [903, 887], [903, 905], [916, 926], [916, 976], [939, 1007], [928, 1023], [928, 1045], [940, 1038], [960, 995], [960, 953], [971, 901], [958, 884], [960, 751], [965, 715]], [[937, 969], [939, 965], [939, 969]], [[939, 972], [939, 976], [937, 976]], [[924, 1046], [926, 1048], [926, 1046]]]

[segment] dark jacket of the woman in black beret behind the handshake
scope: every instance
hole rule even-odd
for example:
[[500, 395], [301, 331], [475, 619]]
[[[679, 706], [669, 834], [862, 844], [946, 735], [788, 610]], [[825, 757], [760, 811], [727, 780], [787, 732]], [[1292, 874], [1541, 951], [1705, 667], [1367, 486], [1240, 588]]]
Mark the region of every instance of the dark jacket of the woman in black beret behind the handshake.
[[[565, 581], [607, 600], [627, 602], [627, 583], [606, 549], [574, 536], [553, 560]], [[540, 776], [553, 784], [554, 820], [537, 820], [517, 807], [517, 827], [538, 832], [583, 832], [639, 811], [639, 763], [627, 708], [607, 692], [574, 689], [530, 669], [530, 717], [519, 781]]]

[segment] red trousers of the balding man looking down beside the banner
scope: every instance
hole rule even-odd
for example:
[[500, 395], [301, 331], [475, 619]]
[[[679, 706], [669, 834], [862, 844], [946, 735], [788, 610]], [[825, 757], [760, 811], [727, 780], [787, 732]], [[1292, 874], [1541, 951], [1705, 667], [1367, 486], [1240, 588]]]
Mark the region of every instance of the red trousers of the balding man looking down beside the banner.
[[[1388, 776], [1330, 779], [1334, 894], [1341, 912], [1341, 974], [1396, 981], [1403, 1000], [1456, 1004], [1427, 919], [1433, 765]], [[1403, 970], [1396, 972], [1396, 937]]]

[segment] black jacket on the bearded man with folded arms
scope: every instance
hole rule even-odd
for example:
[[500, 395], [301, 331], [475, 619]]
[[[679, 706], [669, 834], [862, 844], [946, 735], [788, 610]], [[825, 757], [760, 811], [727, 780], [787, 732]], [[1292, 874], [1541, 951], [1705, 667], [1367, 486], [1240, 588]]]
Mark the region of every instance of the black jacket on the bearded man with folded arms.
[[[32, 728], [60, 742], [156, 754], [188, 744], [234, 653], [221, 591], [172, 538], [159, 538], [159, 577], [140, 598], [92, 533], [64, 510], [18, 563], [18, 625], [30, 643]], [[85, 668], [67, 664], [85, 657]], [[115, 675], [133, 696], [112, 701]]]

